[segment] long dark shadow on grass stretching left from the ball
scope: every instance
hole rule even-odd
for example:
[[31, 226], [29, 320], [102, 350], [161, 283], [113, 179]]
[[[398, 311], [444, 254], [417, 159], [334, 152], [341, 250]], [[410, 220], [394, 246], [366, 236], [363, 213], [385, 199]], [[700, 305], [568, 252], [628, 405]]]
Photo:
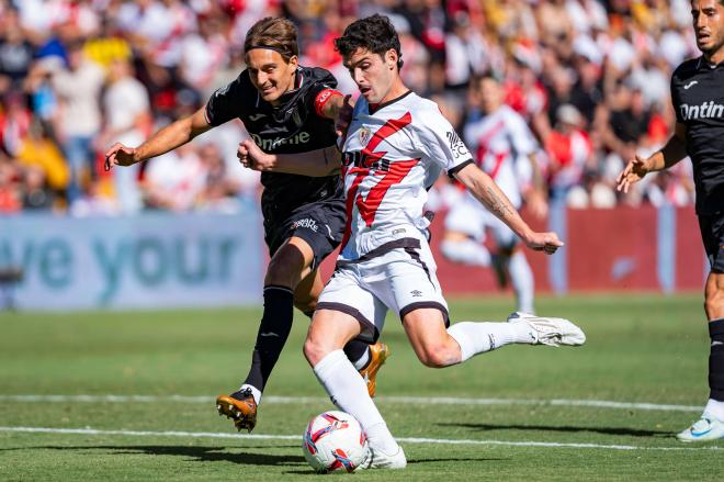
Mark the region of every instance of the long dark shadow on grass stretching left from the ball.
[[[274, 446], [274, 447], [238, 447], [241, 450], [249, 449], [297, 449], [302, 451], [298, 445]], [[137, 455], [146, 453], [149, 456], [179, 456], [190, 457], [199, 462], [233, 462], [242, 466], [306, 466], [303, 456], [278, 456], [272, 453], [252, 453], [252, 452], [230, 452], [237, 447], [189, 447], [189, 446], [44, 446], [44, 447], [19, 447], [3, 450], [109, 450], [112, 455]]]

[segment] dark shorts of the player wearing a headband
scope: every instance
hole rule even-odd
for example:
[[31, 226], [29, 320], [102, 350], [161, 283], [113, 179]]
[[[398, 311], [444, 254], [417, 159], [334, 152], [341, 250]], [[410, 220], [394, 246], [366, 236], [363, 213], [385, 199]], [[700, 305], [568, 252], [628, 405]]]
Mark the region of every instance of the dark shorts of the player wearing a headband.
[[342, 240], [344, 232], [344, 204], [340, 201], [324, 201], [305, 204], [285, 220], [265, 228], [264, 240], [269, 256], [292, 236], [304, 239], [314, 251], [312, 269], [332, 253]]

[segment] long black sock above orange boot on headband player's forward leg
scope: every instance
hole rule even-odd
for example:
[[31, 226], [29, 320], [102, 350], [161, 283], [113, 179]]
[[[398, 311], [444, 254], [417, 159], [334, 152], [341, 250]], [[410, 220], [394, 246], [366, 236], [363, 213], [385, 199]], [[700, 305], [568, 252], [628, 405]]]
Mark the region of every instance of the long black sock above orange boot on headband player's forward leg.
[[292, 330], [294, 293], [289, 288], [264, 287], [264, 314], [261, 316], [257, 345], [251, 357], [251, 368], [246, 384], [264, 391], [274, 365]]

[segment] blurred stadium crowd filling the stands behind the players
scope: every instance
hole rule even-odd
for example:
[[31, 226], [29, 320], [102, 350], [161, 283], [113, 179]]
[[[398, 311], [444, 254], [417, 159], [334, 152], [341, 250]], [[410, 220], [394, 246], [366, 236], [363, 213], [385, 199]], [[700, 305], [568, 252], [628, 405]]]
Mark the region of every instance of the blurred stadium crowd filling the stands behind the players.
[[258, 176], [236, 159], [238, 121], [134, 168], [105, 172], [102, 153], [139, 144], [238, 76], [246, 32], [262, 16], [293, 20], [301, 64], [329, 69], [354, 93], [332, 41], [374, 12], [399, 32], [405, 82], [461, 134], [480, 115], [471, 80], [493, 72], [502, 82], [539, 139], [552, 199], [687, 205], [689, 162], [625, 195], [614, 178], [670, 135], [671, 71], [698, 55], [689, 9], [688, 0], [0, 0], [0, 214], [234, 212], [256, 202]]

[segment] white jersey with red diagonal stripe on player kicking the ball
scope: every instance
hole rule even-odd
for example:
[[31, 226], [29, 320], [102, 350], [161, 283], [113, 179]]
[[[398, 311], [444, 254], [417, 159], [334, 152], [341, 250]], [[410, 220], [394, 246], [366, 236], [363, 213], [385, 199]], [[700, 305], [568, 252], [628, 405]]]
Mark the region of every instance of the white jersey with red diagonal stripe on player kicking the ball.
[[472, 156], [438, 104], [414, 92], [371, 107], [360, 98], [343, 145], [347, 226], [340, 258], [355, 260], [397, 237], [420, 234], [427, 188]]

